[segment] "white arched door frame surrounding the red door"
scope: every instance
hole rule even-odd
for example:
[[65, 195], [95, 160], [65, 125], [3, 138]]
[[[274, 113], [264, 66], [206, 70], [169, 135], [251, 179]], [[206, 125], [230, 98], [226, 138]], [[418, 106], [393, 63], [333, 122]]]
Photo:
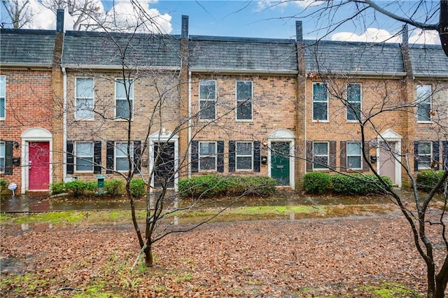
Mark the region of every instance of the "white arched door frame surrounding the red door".
[[[25, 194], [27, 190], [29, 190], [29, 142], [48, 142], [50, 143], [50, 164], [49, 166], [49, 175], [50, 175], [50, 181], [48, 183], [52, 183], [53, 177], [53, 164], [52, 164], [52, 150], [53, 150], [53, 143], [52, 143], [52, 134], [47, 129], [41, 128], [41, 127], [34, 127], [25, 130], [20, 137], [22, 138], [22, 154], [21, 159], [22, 162], [20, 163], [20, 166], [22, 166], [22, 187], [20, 189], [20, 192], [22, 194]], [[50, 185], [48, 185], [48, 190], [50, 189]], [[45, 190], [43, 190], [45, 191]]]

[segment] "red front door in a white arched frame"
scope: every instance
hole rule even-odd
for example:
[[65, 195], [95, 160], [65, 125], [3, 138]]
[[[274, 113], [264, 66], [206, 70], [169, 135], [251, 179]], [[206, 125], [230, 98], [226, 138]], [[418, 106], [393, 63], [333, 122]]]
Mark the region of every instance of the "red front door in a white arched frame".
[[50, 143], [29, 142], [28, 189], [48, 190], [50, 184]]

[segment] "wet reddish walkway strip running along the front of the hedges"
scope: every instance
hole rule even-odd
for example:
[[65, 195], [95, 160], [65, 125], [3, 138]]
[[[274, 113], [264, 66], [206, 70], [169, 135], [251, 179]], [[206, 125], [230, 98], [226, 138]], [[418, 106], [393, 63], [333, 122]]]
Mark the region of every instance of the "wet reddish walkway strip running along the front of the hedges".
[[[402, 190], [400, 190], [402, 192]], [[409, 193], [410, 194], [410, 193]], [[167, 202], [170, 203], [169, 201]], [[358, 204], [388, 204], [388, 197], [309, 197], [297, 192], [279, 192], [274, 197], [244, 197], [232, 204], [239, 206], [297, 206], [297, 205], [358, 205]], [[145, 199], [135, 201], [137, 209], [146, 208]], [[179, 206], [190, 205], [191, 201], [180, 201]], [[207, 207], [225, 207], [229, 201], [207, 204]], [[126, 199], [111, 197], [87, 197], [76, 199], [73, 197], [49, 197], [48, 194], [1, 194], [0, 211], [8, 213], [45, 212], [45, 211], [96, 211], [129, 209]]]

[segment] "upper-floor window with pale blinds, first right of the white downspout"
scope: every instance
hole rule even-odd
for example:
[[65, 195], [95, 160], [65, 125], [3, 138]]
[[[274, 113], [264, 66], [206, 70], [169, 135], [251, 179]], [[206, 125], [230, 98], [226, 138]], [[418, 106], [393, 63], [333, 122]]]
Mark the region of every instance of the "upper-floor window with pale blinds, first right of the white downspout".
[[76, 78], [76, 119], [93, 118], [93, 78]]

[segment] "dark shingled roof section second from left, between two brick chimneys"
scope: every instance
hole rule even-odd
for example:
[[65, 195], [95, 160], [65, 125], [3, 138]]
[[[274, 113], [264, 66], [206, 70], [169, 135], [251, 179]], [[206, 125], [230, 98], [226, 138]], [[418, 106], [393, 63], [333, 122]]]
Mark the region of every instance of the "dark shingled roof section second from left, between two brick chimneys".
[[[125, 54], [120, 51], [126, 50]], [[66, 31], [62, 64], [120, 66], [180, 66], [180, 36]]]

